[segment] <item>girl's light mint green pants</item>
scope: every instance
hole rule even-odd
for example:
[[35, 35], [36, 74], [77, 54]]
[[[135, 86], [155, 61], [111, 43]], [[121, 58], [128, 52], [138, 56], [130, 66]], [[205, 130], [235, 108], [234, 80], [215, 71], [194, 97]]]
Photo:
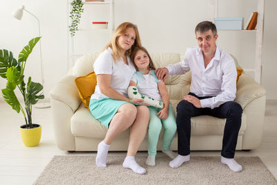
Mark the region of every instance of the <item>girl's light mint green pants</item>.
[[161, 111], [157, 107], [148, 107], [150, 111], [150, 121], [148, 126], [148, 155], [157, 155], [157, 143], [161, 132], [161, 125], [165, 128], [163, 134], [163, 150], [170, 150], [170, 145], [175, 136], [177, 125], [175, 113], [170, 103], [168, 118], [160, 119], [156, 114]]

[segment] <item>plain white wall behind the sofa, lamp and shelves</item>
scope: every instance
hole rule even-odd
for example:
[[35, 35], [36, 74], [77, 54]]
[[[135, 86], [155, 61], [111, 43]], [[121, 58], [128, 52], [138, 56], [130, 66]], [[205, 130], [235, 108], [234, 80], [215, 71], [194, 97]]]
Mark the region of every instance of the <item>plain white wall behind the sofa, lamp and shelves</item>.
[[[39, 17], [42, 30], [42, 56], [44, 59], [45, 95], [55, 82], [67, 71], [66, 62], [66, 0], [0, 0], [0, 49], [12, 51], [17, 58], [21, 49], [28, 41], [38, 35], [37, 21], [24, 13], [21, 21], [12, 17], [11, 13], [17, 7], [24, 5], [26, 9]], [[265, 1], [265, 39], [263, 47], [262, 86], [267, 89], [267, 99], [277, 99], [277, 24], [274, 11], [277, 1]], [[105, 19], [105, 9], [84, 6], [80, 26], [88, 27], [91, 21]], [[107, 10], [107, 9], [106, 9]], [[131, 21], [139, 27], [143, 46], [150, 53], [175, 52], [184, 53], [186, 48], [195, 46], [194, 29], [199, 21], [209, 19], [208, 0], [115, 0], [115, 26], [123, 21]], [[256, 1], [253, 0], [219, 0], [219, 17], [244, 17], [248, 19], [251, 12], [256, 11]], [[94, 15], [93, 12], [97, 12]], [[246, 21], [246, 20], [244, 20]], [[107, 41], [109, 34], [88, 32], [78, 33], [80, 38], [77, 53], [98, 52]], [[217, 45], [235, 55], [242, 67], [253, 67], [255, 52], [255, 33], [219, 32]], [[39, 45], [28, 58], [26, 76], [32, 76], [34, 81], [41, 81], [39, 64]], [[252, 75], [252, 74], [250, 74]], [[6, 86], [6, 81], [0, 78], [0, 88]]]

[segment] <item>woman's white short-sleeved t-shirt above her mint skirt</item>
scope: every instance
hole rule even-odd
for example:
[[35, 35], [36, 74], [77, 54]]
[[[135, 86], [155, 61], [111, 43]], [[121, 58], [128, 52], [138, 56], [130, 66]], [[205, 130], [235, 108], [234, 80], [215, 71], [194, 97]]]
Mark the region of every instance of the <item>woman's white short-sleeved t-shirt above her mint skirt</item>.
[[[99, 57], [96, 59], [96, 62], [93, 64], [94, 72], [96, 75], [99, 74], [109, 74], [111, 75], [111, 88], [118, 91], [126, 98], [127, 88], [129, 87], [129, 82], [132, 78], [133, 73], [136, 71], [134, 65], [132, 64], [129, 57], [127, 57], [128, 65], [123, 62], [123, 59], [117, 60], [114, 62], [111, 56], [111, 49], [105, 49], [100, 53]], [[93, 99], [102, 99], [109, 98], [101, 93], [99, 85], [97, 83], [94, 94], [91, 95]]]

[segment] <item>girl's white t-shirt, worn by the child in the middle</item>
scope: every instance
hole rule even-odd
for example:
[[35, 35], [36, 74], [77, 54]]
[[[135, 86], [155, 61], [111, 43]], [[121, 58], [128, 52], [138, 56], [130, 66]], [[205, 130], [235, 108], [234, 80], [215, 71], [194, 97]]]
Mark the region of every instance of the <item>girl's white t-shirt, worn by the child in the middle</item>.
[[151, 70], [146, 75], [136, 71], [131, 80], [136, 83], [136, 87], [138, 87], [140, 94], [149, 96], [155, 100], [161, 100], [161, 94], [158, 88], [158, 82], [160, 80], [158, 80], [154, 70]]

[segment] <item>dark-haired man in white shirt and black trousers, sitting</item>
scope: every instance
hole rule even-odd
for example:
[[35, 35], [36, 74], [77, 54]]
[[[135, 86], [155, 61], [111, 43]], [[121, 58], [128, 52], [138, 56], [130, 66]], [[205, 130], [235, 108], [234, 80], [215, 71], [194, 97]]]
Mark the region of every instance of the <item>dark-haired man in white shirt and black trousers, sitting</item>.
[[223, 164], [235, 172], [242, 166], [234, 160], [235, 146], [241, 125], [242, 107], [235, 103], [237, 71], [233, 58], [216, 46], [217, 29], [210, 21], [195, 28], [199, 47], [186, 51], [181, 62], [156, 70], [157, 78], [166, 80], [168, 74], [192, 73], [190, 93], [177, 105], [178, 156], [170, 161], [177, 168], [190, 160], [190, 118], [210, 115], [226, 118], [222, 141]]

